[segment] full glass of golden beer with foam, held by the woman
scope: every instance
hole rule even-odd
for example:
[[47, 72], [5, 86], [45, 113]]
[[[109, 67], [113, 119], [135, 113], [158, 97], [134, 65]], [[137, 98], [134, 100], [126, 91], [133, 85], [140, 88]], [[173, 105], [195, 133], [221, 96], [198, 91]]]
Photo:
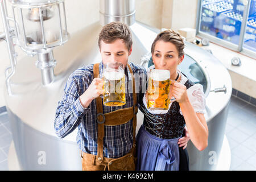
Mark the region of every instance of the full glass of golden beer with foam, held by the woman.
[[164, 69], [151, 69], [148, 78], [147, 108], [167, 110], [170, 104], [170, 71]]

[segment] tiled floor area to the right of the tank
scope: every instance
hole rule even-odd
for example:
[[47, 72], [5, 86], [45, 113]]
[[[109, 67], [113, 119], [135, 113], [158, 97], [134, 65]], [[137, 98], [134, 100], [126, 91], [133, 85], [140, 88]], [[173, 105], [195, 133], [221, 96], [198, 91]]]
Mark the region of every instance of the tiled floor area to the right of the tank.
[[256, 107], [231, 98], [226, 137], [231, 150], [230, 170], [256, 170]]

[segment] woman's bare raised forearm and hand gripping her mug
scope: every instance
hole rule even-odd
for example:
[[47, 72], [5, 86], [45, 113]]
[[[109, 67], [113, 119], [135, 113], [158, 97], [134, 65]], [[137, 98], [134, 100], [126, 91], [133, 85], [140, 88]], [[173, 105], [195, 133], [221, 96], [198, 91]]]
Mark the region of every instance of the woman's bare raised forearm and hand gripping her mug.
[[172, 95], [179, 102], [192, 143], [198, 150], [203, 151], [208, 145], [208, 127], [204, 114], [196, 113], [193, 109], [186, 86], [175, 82], [172, 85]]

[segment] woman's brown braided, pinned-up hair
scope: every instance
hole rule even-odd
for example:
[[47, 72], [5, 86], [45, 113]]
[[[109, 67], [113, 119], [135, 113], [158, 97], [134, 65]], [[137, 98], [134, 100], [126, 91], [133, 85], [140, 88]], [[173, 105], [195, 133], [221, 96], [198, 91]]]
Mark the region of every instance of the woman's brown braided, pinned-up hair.
[[155, 44], [159, 40], [163, 40], [164, 42], [170, 42], [170, 43], [174, 44], [178, 51], [179, 57], [184, 55], [183, 49], [185, 47], [185, 44], [184, 44], [184, 41], [183, 41], [181, 35], [178, 32], [176, 32], [174, 30], [165, 30], [165, 31], [160, 32], [156, 36], [154, 42], [152, 43], [152, 46], [151, 46], [152, 55], [155, 51]]

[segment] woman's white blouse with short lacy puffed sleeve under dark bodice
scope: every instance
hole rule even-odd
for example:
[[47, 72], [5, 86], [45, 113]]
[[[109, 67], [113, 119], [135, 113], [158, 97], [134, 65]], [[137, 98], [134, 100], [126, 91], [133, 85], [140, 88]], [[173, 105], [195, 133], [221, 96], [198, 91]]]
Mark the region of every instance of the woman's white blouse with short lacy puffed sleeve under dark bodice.
[[[152, 65], [151, 67], [148, 68], [148, 72], [150, 69], [154, 69], [154, 65]], [[185, 84], [185, 82], [187, 82], [188, 78], [185, 77], [179, 70], [177, 70], [179, 72], [179, 74], [181, 75], [181, 79], [179, 81], [180, 84]], [[203, 90], [203, 86], [201, 84], [195, 84], [193, 86], [191, 86], [190, 88], [187, 89], [187, 95], [188, 95], [188, 99], [191, 102], [191, 105], [193, 107], [193, 109], [195, 110], [196, 113], [202, 113], [205, 114], [205, 95], [204, 95], [204, 90]], [[144, 106], [147, 108], [147, 102], [146, 102], [146, 97], [144, 94], [143, 97], [143, 104]], [[168, 110], [170, 109], [172, 105], [172, 102], [169, 104]], [[168, 113], [168, 110], [151, 110], [148, 109], [147, 110], [152, 113], [152, 114], [165, 114]], [[182, 111], [180, 109], [180, 114], [182, 114]]]

